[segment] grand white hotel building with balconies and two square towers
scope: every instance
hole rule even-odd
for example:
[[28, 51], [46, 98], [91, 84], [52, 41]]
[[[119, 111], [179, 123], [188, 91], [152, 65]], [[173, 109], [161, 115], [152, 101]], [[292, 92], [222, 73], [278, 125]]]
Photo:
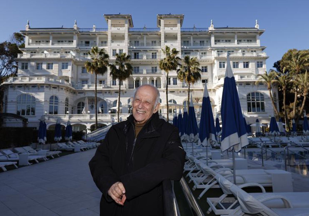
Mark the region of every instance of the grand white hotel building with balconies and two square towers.
[[[266, 70], [265, 46], [260, 35], [265, 30], [255, 27], [182, 28], [184, 15], [157, 15], [157, 28], [133, 28], [131, 15], [104, 15], [108, 28], [31, 28], [29, 22], [25, 35], [25, 48], [18, 55], [18, 77], [10, 77], [5, 86], [4, 111], [28, 118], [28, 127], [38, 127], [39, 118], [46, 113], [47, 126], [57, 118], [66, 125], [71, 121], [73, 130], [84, 130], [95, 123], [94, 75], [87, 73], [84, 64], [92, 46], [104, 48], [115, 60], [115, 54], [125, 52], [131, 56], [134, 67], [132, 76], [121, 86], [121, 117], [130, 112], [130, 97], [139, 85], [155, 85], [165, 104], [165, 86], [168, 85], [170, 103], [185, 104], [187, 85], [177, 79], [176, 71], [159, 69], [163, 57], [161, 48], [166, 45], [180, 51], [180, 57], [197, 57], [201, 67], [201, 80], [191, 85], [197, 117], [204, 85], [210, 95], [214, 114], [220, 111], [222, 88], [226, 68], [226, 53], [231, 65], [243, 114], [249, 123], [269, 122], [273, 113], [267, 86], [255, 85], [258, 74]], [[109, 113], [116, 106], [118, 81], [112, 80], [109, 71], [98, 76], [98, 122], [109, 124], [115, 114]], [[273, 95], [276, 98], [277, 90]], [[86, 106], [89, 114], [82, 114]], [[170, 107], [170, 112], [174, 108]], [[97, 110], [98, 111], [98, 110]], [[167, 110], [160, 110], [166, 116]], [[178, 112], [178, 110], [177, 110]], [[173, 114], [170, 113], [170, 120]]]

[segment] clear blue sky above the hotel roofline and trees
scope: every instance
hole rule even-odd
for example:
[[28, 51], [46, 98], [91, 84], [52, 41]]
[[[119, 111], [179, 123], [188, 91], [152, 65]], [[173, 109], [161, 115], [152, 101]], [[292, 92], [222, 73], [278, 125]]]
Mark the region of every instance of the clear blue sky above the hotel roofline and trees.
[[131, 14], [134, 27], [156, 27], [157, 14], [184, 14], [182, 27], [254, 27], [257, 19], [265, 33], [267, 69], [290, 48], [309, 48], [309, 1], [307, 0], [2, 0], [0, 42], [30, 27], [106, 28], [104, 14]]

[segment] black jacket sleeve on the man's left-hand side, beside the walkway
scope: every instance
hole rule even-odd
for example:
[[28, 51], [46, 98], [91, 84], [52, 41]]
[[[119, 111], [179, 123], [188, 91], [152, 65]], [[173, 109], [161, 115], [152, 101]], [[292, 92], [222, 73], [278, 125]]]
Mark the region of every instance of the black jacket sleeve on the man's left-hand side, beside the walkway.
[[107, 194], [109, 188], [120, 178], [112, 170], [111, 159], [113, 152], [110, 149], [111, 144], [115, 144], [117, 138], [116, 130], [111, 127], [105, 136], [104, 142], [99, 145], [95, 155], [89, 162], [90, 172], [95, 182], [95, 185], [103, 193], [107, 201], [112, 201], [111, 197]]

